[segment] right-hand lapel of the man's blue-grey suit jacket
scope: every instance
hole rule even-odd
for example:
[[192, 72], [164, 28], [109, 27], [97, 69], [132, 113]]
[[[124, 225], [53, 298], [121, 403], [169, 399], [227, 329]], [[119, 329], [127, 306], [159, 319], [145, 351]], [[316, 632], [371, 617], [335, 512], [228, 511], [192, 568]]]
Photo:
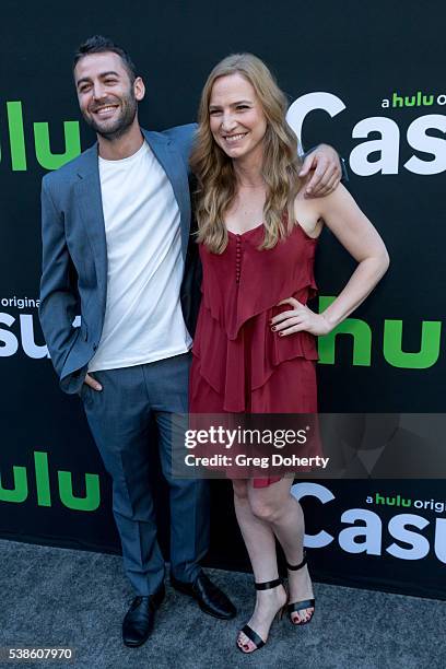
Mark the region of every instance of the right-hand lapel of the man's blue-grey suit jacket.
[[149, 132], [146, 130], [142, 130], [142, 132], [172, 184], [180, 214], [181, 254], [183, 258], [186, 258], [190, 232], [190, 196], [187, 168], [184, 159], [175, 148], [174, 142], [165, 136], [160, 132]]

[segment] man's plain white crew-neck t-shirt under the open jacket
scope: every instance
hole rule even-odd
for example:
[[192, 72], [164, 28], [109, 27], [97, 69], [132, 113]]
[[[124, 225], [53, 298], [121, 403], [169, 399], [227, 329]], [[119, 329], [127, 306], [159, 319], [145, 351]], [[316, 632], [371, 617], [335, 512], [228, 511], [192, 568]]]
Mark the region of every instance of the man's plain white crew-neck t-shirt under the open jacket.
[[89, 372], [154, 362], [191, 345], [179, 301], [179, 209], [149, 144], [99, 157], [108, 273], [105, 320]]

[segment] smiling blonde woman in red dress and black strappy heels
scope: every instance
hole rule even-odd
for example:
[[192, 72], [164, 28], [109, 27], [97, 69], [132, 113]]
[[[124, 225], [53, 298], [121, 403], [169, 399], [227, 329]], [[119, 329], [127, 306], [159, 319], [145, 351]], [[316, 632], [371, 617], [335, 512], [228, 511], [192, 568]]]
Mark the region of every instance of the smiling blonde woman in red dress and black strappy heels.
[[[388, 267], [383, 240], [348, 191], [307, 199], [286, 103], [268, 68], [249, 54], [222, 60], [201, 96], [191, 167], [198, 179], [203, 298], [193, 343], [191, 413], [315, 412], [315, 337], [327, 334], [368, 295]], [[313, 262], [324, 222], [357, 261], [322, 313]], [[314, 612], [303, 551], [304, 517], [292, 479], [233, 480], [235, 512], [257, 599], [237, 646], [265, 645], [287, 603], [294, 624]], [[289, 568], [279, 579], [275, 538]]]

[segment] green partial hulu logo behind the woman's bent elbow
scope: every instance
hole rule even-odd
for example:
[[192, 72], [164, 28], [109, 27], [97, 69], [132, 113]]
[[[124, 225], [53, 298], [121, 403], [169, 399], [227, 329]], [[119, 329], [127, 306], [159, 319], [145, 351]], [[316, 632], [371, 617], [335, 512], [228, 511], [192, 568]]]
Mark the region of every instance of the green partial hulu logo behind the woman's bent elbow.
[[[319, 297], [319, 310], [324, 312], [336, 297]], [[426, 369], [436, 363], [441, 351], [442, 322], [423, 320], [419, 351], [402, 350], [402, 320], [384, 321], [383, 355], [392, 367]], [[336, 342], [348, 336], [353, 341], [353, 365], [369, 367], [372, 364], [372, 329], [360, 318], [345, 318], [329, 334], [319, 337], [319, 363], [333, 365]]]

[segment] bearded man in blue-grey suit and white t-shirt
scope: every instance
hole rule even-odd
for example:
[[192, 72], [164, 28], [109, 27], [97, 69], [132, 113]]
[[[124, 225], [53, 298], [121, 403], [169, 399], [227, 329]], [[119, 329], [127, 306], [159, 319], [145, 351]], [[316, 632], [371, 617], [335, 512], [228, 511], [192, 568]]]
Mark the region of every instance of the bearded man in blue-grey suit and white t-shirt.
[[[171, 471], [171, 416], [187, 412], [191, 334], [199, 303], [189, 244], [188, 155], [195, 126], [148, 132], [144, 84], [128, 54], [95, 36], [74, 59], [74, 83], [97, 144], [42, 188], [40, 321], [62, 390], [79, 392], [113, 479], [113, 510], [136, 597], [127, 646], [148, 638], [164, 598], [164, 561], [149, 484], [150, 421], [171, 501], [171, 582], [221, 619], [236, 613], [199, 566], [208, 549], [208, 486]], [[336, 156], [336, 152], [327, 148]], [[317, 181], [339, 181], [338, 161], [310, 157]], [[80, 328], [72, 321], [81, 314]], [[153, 445], [152, 445], [153, 446]]]

